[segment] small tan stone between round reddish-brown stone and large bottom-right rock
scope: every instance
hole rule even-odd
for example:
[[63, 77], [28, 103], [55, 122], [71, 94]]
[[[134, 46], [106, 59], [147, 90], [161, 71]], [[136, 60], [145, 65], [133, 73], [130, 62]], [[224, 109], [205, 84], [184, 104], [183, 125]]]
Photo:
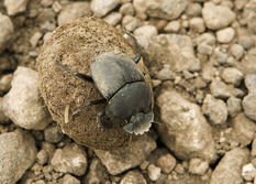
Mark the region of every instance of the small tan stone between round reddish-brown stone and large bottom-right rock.
[[202, 161], [198, 158], [192, 158], [189, 161], [189, 172], [197, 175], [203, 175], [209, 169], [209, 163], [207, 161]]

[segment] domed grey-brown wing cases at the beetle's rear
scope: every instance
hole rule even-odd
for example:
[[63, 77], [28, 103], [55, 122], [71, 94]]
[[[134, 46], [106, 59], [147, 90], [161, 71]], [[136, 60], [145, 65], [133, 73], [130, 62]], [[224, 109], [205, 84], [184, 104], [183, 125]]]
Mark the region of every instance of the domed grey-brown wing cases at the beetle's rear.
[[132, 58], [113, 52], [96, 57], [90, 68], [97, 88], [107, 99], [127, 83], [145, 80]]

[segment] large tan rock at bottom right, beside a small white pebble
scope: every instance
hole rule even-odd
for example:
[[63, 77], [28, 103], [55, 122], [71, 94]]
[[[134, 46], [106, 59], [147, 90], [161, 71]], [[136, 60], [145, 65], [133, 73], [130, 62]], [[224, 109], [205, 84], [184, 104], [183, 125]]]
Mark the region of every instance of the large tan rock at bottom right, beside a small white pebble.
[[235, 148], [225, 153], [212, 173], [210, 184], [243, 184], [242, 166], [249, 160], [248, 149]]

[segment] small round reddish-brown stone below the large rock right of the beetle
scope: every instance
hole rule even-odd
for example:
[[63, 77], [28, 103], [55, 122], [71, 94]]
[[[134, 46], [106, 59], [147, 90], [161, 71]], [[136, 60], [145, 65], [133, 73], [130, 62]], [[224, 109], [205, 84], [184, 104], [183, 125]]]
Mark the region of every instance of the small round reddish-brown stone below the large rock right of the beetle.
[[157, 166], [166, 174], [170, 173], [176, 166], [176, 159], [171, 154], [165, 154], [157, 159]]

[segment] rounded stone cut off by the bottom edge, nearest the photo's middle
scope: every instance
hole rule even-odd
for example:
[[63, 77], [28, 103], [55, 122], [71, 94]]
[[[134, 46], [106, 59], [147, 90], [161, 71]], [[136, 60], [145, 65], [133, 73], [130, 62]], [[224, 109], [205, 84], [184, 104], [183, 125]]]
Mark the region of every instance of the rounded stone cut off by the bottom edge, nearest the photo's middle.
[[142, 173], [137, 170], [127, 172], [127, 174], [125, 174], [120, 182], [120, 184], [129, 184], [129, 183], [147, 184]]

